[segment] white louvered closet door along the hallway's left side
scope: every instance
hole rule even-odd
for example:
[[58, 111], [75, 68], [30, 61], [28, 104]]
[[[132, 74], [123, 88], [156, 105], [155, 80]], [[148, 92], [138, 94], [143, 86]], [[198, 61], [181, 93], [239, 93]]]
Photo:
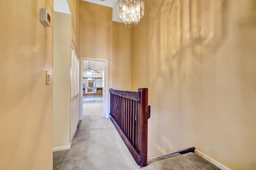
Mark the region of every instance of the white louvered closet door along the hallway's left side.
[[70, 141], [76, 134], [77, 125], [80, 119], [79, 111], [79, 57], [75, 51], [75, 48], [71, 48], [71, 102], [70, 102]]

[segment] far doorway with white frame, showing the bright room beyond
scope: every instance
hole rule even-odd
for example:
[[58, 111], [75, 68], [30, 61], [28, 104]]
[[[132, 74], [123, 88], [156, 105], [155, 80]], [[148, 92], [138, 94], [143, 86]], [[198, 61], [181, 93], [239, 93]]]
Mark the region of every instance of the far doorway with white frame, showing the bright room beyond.
[[81, 58], [80, 120], [84, 110], [90, 106], [101, 108], [102, 115], [108, 117], [108, 94], [105, 90], [108, 89], [107, 62], [107, 59]]

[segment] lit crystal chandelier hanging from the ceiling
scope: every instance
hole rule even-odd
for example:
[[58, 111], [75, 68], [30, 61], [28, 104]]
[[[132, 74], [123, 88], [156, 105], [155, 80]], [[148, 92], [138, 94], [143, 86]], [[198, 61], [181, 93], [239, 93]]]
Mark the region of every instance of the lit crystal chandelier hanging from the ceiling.
[[124, 26], [136, 26], [144, 16], [145, 0], [118, 0], [117, 14]]

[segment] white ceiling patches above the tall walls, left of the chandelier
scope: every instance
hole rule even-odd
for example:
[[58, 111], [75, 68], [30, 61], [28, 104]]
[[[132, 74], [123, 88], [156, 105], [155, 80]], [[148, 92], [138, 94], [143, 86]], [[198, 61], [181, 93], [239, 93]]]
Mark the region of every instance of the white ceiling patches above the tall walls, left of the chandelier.
[[[112, 11], [112, 21], [116, 22], [122, 22], [122, 20], [117, 15], [117, 0], [83, 0], [86, 2], [91, 2], [94, 4], [99, 4], [103, 6], [108, 6], [110, 8], [113, 8]], [[68, 2], [67, 0], [54, 0], [54, 11], [56, 12], [62, 12], [65, 14], [70, 14], [70, 10], [68, 8]]]

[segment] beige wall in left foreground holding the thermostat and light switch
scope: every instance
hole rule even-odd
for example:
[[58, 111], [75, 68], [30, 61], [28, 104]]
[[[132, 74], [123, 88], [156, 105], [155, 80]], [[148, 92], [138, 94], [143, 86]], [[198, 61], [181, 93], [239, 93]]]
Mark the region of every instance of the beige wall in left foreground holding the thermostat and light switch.
[[[0, 1], [0, 169], [52, 169], [53, 0]], [[50, 85], [46, 85], [46, 70]]]

